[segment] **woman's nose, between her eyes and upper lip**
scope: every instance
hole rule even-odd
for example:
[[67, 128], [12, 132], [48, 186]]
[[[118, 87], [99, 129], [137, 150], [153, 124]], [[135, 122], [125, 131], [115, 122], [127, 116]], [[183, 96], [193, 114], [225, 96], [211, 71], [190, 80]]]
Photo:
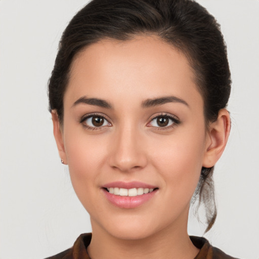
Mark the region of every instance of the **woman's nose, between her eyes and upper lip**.
[[144, 168], [147, 161], [143, 136], [137, 128], [124, 126], [114, 132], [109, 157], [111, 167], [128, 172]]

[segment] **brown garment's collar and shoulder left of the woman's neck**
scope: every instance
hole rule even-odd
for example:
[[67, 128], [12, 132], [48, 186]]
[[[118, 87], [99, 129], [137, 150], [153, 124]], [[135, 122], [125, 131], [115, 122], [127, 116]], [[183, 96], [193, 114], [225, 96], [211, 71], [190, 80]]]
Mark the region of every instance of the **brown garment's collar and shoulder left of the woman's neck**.
[[87, 247], [91, 242], [91, 238], [91, 233], [81, 234], [71, 248], [45, 259], [90, 259]]

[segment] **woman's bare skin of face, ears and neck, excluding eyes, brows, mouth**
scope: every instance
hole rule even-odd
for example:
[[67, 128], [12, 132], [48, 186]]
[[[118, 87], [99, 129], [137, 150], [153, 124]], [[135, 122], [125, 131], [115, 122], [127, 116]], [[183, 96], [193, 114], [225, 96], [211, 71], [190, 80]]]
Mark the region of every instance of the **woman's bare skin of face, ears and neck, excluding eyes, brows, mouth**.
[[[147, 99], [177, 97], [143, 108]], [[85, 103], [107, 101], [112, 109]], [[106, 120], [87, 128], [88, 114]], [[186, 57], [155, 36], [119, 42], [105, 39], [75, 57], [64, 95], [64, 121], [52, 112], [60, 157], [69, 166], [74, 190], [90, 214], [95, 258], [194, 258], [187, 233], [190, 200], [201, 167], [220, 158], [230, 130], [223, 109], [208, 130], [203, 100]], [[156, 116], [170, 115], [159, 127]], [[81, 120], [81, 122], [79, 122]], [[118, 208], [104, 196], [114, 181], [140, 181], [158, 188], [136, 208]]]

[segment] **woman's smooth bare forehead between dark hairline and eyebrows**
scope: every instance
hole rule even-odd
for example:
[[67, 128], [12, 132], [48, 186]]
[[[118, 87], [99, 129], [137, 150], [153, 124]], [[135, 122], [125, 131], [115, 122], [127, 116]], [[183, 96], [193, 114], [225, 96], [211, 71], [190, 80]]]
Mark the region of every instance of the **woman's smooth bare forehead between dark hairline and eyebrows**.
[[115, 94], [127, 99], [199, 95], [185, 55], [155, 36], [104, 39], [76, 55], [65, 98], [98, 95], [107, 99]]

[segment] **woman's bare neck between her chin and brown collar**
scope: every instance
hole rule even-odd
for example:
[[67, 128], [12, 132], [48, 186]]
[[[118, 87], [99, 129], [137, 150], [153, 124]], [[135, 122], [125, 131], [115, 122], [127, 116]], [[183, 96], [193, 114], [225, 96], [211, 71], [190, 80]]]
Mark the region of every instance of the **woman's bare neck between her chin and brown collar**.
[[93, 236], [88, 253], [91, 259], [193, 259], [199, 249], [189, 238], [187, 220], [181, 219], [182, 222], [175, 222], [174, 226], [167, 226], [166, 229], [139, 239], [117, 238], [92, 223]]

